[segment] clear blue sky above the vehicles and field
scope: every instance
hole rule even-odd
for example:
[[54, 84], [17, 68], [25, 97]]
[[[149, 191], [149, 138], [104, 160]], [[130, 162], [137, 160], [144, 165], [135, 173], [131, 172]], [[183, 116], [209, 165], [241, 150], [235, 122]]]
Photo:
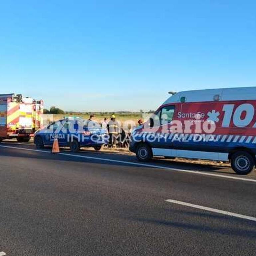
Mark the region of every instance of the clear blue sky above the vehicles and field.
[[255, 1], [0, 1], [0, 93], [73, 111], [256, 86]]

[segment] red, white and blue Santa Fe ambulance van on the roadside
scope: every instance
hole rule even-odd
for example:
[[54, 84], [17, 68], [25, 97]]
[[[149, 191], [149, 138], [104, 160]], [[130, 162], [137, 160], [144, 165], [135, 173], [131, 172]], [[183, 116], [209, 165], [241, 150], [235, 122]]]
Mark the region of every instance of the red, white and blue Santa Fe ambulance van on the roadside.
[[171, 92], [135, 128], [130, 151], [138, 160], [153, 156], [229, 161], [237, 174], [256, 163], [256, 87]]

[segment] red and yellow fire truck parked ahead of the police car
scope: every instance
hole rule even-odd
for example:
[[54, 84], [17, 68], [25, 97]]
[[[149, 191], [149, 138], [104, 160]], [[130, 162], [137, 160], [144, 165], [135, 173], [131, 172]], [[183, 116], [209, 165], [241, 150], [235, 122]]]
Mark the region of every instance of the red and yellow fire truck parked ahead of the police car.
[[28, 142], [41, 128], [43, 101], [21, 94], [0, 94], [0, 142], [16, 138]]

